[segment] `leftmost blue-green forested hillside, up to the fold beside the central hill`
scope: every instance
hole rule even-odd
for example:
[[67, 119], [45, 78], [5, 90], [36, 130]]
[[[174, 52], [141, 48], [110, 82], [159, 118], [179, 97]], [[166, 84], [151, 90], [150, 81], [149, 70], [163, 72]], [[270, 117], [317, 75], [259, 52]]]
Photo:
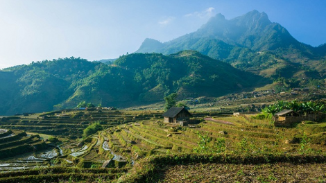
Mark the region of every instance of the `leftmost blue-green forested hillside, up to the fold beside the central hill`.
[[53, 110], [73, 94], [78, 80], [95, 71], [98, 63], [80, 58], [44, 60], [0, 71], [0, 114]]

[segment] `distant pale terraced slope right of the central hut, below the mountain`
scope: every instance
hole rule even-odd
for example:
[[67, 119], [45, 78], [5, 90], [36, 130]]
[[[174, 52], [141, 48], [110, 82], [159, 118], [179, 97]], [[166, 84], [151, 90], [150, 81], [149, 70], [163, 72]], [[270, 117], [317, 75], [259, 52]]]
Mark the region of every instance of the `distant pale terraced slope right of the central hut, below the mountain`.
[[220, 110], [220, 112], [257, 113], [275, 101], [295, 99], [297, 101], [326, 100], [326, 89], [293, 88], [289, 92], [279, 93], [275, 92], [274, 89], [268, 89], [259, 92], [228, 94], [218, 98], [187, 98], [185, 101], [192, 110], [208, 107], [212, 110]]

